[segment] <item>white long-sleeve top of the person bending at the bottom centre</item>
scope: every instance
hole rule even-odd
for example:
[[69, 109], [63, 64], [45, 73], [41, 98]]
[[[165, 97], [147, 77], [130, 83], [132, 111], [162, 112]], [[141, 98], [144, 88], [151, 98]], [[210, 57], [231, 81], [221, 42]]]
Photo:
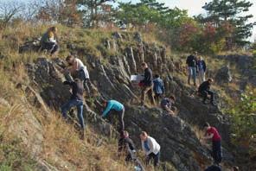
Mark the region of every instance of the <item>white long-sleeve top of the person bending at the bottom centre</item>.
[[144, 150], [144, 153], [146, 155], [150, 155], [151, 153], [154, 153], [155, 155], [157, 155], [157, 153], [159, 153], [160, 151], [160, 145], [151, 136], [148, 136], [146, 141], [142, 141], [141, 144], [142, 144], [142, 149]]

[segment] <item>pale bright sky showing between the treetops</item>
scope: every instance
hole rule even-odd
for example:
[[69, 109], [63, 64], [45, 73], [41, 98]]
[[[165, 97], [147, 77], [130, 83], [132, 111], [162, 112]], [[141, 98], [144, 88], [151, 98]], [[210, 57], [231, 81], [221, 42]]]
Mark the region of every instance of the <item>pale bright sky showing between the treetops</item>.
[[[138, 0], [119, 0], [122, 2], [131, 2], [137, 3]], [[211, 0], [157, 0], [159, 3], [165, 3], [166, 6], [170, 8], [177, 7], [179, 9], [188, 9], [189, 16], [197, 16], [199, 14], [205, 14], [205, 10], [202, 9], [202, 6], [205, 3], [210, 2]], [[250, 8], [249, 14], [253, 14], [253, 19], [250, 22], [256, 22], [256, 0], [249, 0], [253, 3], [253, 6]], [[254, 41], [256, 39], [256, 26], [253, 28], [253, 35], [249, 39]]]

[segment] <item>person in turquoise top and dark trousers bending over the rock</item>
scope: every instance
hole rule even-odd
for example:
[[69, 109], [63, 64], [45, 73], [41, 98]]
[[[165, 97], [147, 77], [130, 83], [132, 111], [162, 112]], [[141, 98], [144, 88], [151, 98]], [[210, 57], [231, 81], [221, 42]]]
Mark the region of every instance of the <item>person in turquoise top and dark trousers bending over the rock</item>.
[[101, 117], [103, 118], [107, 117], [110, 111], [115, 111], [118, 114], [118, 120], [119, 120], [118, 131], [121, 134], [122, 131], [125, 130], [125, 122], [124, 122], [125, 106], [116, 100], [106, 101], [105, 99], [102, 100], [102, 105], [105, 107], [105, 111], [103, 111]]

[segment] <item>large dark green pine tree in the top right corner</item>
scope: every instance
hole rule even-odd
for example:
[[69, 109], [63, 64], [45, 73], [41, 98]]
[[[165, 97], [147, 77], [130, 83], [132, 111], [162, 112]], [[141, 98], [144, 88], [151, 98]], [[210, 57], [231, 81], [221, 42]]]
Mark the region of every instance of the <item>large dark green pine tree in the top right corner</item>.
[[217, 28], [223, 22], [229, 22], [234, 27], [234, 34], [229, 39], [239, 46], [244, 46], [247, 42], [246, 38], [252, 35], [255, 23], [248, 23], [248, 19], [253, 15], [244, 16], [243, 13], [252, 5], [253, 3], [246, 0], [213, 0], [202, 7], [208, 11], [208, 16], [205, 18], [198, 16], [197, 19], [201, 22], [213, 22]]

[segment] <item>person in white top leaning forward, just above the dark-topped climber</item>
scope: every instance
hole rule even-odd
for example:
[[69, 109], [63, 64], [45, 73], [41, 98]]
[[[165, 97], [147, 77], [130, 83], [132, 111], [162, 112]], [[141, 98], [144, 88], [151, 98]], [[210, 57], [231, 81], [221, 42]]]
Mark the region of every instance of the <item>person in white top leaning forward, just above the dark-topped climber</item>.
[[92, 88], [92, 83], [90, 81], [89, 73], [87, 70], [87, 67], [83, 64], [83, 62], [75, 58], [74, 55], [68, 55], [66, 58], [68, 67], [66, 72], [65, 77], [66, 79], [69, 78], [69, 73], [74, 76], [74, 78], [79, 78], [80, 80], [83, 81], [84, 88], [86, 89], [86, 92], [88, 93], [89, 96], [91, 96], [91, 90]]

